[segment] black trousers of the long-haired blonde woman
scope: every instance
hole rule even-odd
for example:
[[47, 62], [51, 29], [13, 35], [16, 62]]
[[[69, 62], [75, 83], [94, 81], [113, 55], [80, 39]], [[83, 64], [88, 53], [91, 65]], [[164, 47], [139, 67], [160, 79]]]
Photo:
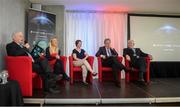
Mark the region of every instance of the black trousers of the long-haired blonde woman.
[[56, 63], [54, 65], [54, 73], [57, 75], [62, 74], [63, 79], [68, 78], [67, 74], [64, 71], [64, 64], [63, 64], [62, 60], [56, 59]]

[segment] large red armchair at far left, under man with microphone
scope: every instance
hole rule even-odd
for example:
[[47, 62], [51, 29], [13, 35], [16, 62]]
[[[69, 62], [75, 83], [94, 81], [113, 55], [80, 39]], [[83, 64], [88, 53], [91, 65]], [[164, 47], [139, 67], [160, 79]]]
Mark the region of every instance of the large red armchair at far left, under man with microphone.
[[32, 96], [33, 88], [42, 88], [39, 75], [32, 71], [32, 59], [28, 56], [7, 56], [6, 69], [10, 80], [17, 80], [23, 96]]

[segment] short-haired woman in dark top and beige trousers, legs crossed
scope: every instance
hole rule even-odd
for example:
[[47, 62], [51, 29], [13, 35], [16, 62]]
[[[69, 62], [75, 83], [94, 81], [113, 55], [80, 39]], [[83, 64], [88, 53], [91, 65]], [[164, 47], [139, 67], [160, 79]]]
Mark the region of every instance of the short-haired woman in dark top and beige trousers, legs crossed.
[[76, 48], [72, 52], [73, 59], [74, 59], [73, 65], [80, 66], [82, 68], [83, 83], [85, 85], [88, 85], [88, 83], [86, 82], [88, 71], [91, 72], [93, 76], [96, 76], [97, 73], [93, 71], [90, 64], [86, 60], [88, 58], [88, 54], [86, 53], [84, 49], [81, 49], [82, 41], [76, 40], [75, 45], [76, 45]]

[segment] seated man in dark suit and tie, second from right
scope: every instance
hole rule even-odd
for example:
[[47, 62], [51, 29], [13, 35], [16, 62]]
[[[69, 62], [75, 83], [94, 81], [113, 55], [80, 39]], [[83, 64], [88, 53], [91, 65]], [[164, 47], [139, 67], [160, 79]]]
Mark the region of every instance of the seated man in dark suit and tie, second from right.
[[98, 52], [96, 53], [96, 57], [102, 58], [103, 66], [112, 68], [115, 85], [120, 87], [118, 71], [125, 70], [125, 72], [127, 72], [128, 69], [126, 69], [125, 66], [118, 61], [118, 53], [114, 48], [111, 48], [111, 40], [109, 38], [104, 40], [104, 45], [105, 46], [99, 48]]

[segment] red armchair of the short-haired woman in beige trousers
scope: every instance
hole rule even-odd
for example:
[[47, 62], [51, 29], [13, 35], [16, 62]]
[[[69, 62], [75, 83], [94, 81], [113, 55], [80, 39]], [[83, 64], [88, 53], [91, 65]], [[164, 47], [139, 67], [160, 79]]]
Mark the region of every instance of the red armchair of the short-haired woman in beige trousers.
[[[91, 67], [93, 68], [93, 62], [94, 62], [94, 57], [93, 56], [89, 56], [88, 57], [88, 62], [91, 65]], [[73, 84], [74, 80], [79, 80], [82, 81], [82, 69], [81, 67], [75, 67], [73, 65], [73, 57], [69, 56], [69, 74], [70, 74], [70, 78], [71, 78], [71, 84]], [[88, 72], [88, 76], [87, 76], [87, 81], [89, 83], [92, 83], [92, 73]]]

